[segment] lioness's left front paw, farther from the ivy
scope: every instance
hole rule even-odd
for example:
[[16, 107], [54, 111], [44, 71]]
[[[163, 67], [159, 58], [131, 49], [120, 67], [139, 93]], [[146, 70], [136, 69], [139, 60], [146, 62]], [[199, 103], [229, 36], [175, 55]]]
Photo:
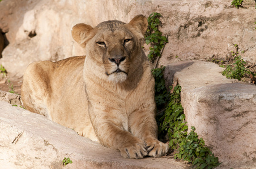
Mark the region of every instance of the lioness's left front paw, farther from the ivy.
[[132, 141], [127, 141], [120, 149], [121, 155], [124, 158], [143, 158], [148, 154], [146, 144], [143, 140], [135, 137]]

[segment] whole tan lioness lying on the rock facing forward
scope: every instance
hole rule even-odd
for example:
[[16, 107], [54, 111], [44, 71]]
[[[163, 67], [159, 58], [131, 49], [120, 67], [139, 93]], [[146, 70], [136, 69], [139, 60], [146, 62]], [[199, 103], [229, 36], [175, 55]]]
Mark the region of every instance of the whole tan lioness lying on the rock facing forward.
[[22, 85], [25, 108], [125, 158], [164, 155], [168, 145], [157, 140], [155, 81], [142, 51], [146, 30], [143, 15], [129, 24], [75, 25], [72, 37], [86, 56], [30, 64]]

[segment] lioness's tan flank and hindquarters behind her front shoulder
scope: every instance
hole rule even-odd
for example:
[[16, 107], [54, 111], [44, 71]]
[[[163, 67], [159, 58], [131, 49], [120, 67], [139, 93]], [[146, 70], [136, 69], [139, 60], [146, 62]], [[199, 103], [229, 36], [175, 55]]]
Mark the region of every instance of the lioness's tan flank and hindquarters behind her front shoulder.
[[97, 141], [92, 125], [83, 120], [88, 114], [82, 75], [84, 59], [85, 56], [77, 56], [56, 63], [30, 64], [23, 76], [22, 101], [27, 110], [72, 128], [79, 135], [85, 136], [85, 130], [92, 130], [87, 132], [87, 137]]

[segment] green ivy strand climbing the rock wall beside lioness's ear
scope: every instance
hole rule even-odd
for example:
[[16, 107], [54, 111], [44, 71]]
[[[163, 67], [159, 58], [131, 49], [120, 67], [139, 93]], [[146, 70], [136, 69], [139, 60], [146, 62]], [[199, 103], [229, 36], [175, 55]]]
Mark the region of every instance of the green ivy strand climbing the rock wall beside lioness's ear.
[[161, 52], [165, 46], [165, 43], [168, 42], [167, 37], [164, 37], [162, 32], [159, 30], [160, 17], [163, 17], [157, 12], [153, 12], [148, 17], [148, 29], [145, 35], [147, 45], [150, 44], [150, 53], [148, 54], [148, 60], [152, 63], [161, 57]]

